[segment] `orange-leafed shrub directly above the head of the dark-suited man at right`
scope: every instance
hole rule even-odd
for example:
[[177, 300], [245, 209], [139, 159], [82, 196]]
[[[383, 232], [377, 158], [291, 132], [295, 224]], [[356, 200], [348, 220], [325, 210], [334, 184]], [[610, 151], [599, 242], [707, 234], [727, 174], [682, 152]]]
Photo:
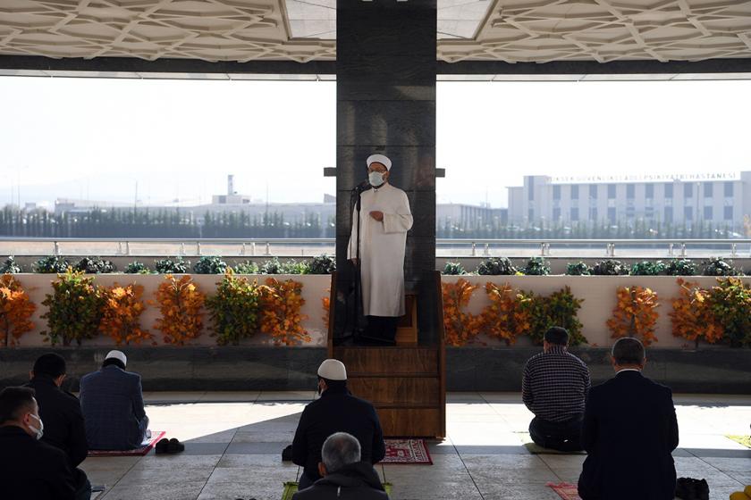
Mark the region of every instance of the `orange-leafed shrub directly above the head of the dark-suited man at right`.
[[613, 338], [640, 337], [645, 346], [657, 341], [654, 325], [657, 322], [657, 294], [645, 287], [619, 287], [618, 304], [607, 321]]

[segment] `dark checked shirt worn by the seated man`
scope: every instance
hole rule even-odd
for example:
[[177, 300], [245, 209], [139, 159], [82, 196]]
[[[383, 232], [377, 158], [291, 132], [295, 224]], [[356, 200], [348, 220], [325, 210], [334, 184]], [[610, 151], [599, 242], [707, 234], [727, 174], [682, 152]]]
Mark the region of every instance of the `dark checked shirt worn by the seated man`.
[[532, 356], [524, 367], [521, 398], [530, 412], [545, 421], [570, 421], [584, 414], [591, 386], [589, 369], [563, 346]]

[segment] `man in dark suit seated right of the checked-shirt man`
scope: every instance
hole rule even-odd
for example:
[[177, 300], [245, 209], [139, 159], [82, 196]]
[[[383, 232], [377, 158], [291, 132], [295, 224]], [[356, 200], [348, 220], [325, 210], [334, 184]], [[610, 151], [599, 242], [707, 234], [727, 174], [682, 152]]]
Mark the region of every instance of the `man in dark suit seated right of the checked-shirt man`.
[[620, 338], [612, 347], [613, 379], [586, 399], [578, 481], [582, 500], [672, 500], [678, 421], [671, 389], [642, 376], [644, 346]]

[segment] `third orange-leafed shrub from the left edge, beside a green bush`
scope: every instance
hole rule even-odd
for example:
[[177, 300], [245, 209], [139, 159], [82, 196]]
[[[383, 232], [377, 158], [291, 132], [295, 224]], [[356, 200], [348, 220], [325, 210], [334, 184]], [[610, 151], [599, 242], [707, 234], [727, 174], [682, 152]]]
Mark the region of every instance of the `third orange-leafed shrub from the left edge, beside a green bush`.
[[165, 275], [165, 280], [156, 290], [156, 305], [162, 317], [154, 323], [154, 328], [165, 336], [165, 344], [184, 346], [186, 341], [201, 334], [205, 302], [206, 296], [198, 290], [190, 275], [181, 279], [175, 279], [172, 274]]

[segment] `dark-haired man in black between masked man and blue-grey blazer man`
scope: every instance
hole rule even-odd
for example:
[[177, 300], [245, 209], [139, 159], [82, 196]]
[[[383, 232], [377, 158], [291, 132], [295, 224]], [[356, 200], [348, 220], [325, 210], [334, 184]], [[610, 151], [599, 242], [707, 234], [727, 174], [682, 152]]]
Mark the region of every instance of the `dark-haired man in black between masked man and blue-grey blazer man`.
[[34, 389], [39, 417], [45, 422], [42, 441], [68, 455], [76, 483], [76, 498], [88, 500], [91, 497], [91, 483], [86, 473], [77, 468], [80, 462], [86, 460], [89, 451], [86, 427], [78, 398], [60, 388], [65, 379], [65, 368], [65, 360], [60, 354], [42, 354], [34, 362], [27, 387]]

